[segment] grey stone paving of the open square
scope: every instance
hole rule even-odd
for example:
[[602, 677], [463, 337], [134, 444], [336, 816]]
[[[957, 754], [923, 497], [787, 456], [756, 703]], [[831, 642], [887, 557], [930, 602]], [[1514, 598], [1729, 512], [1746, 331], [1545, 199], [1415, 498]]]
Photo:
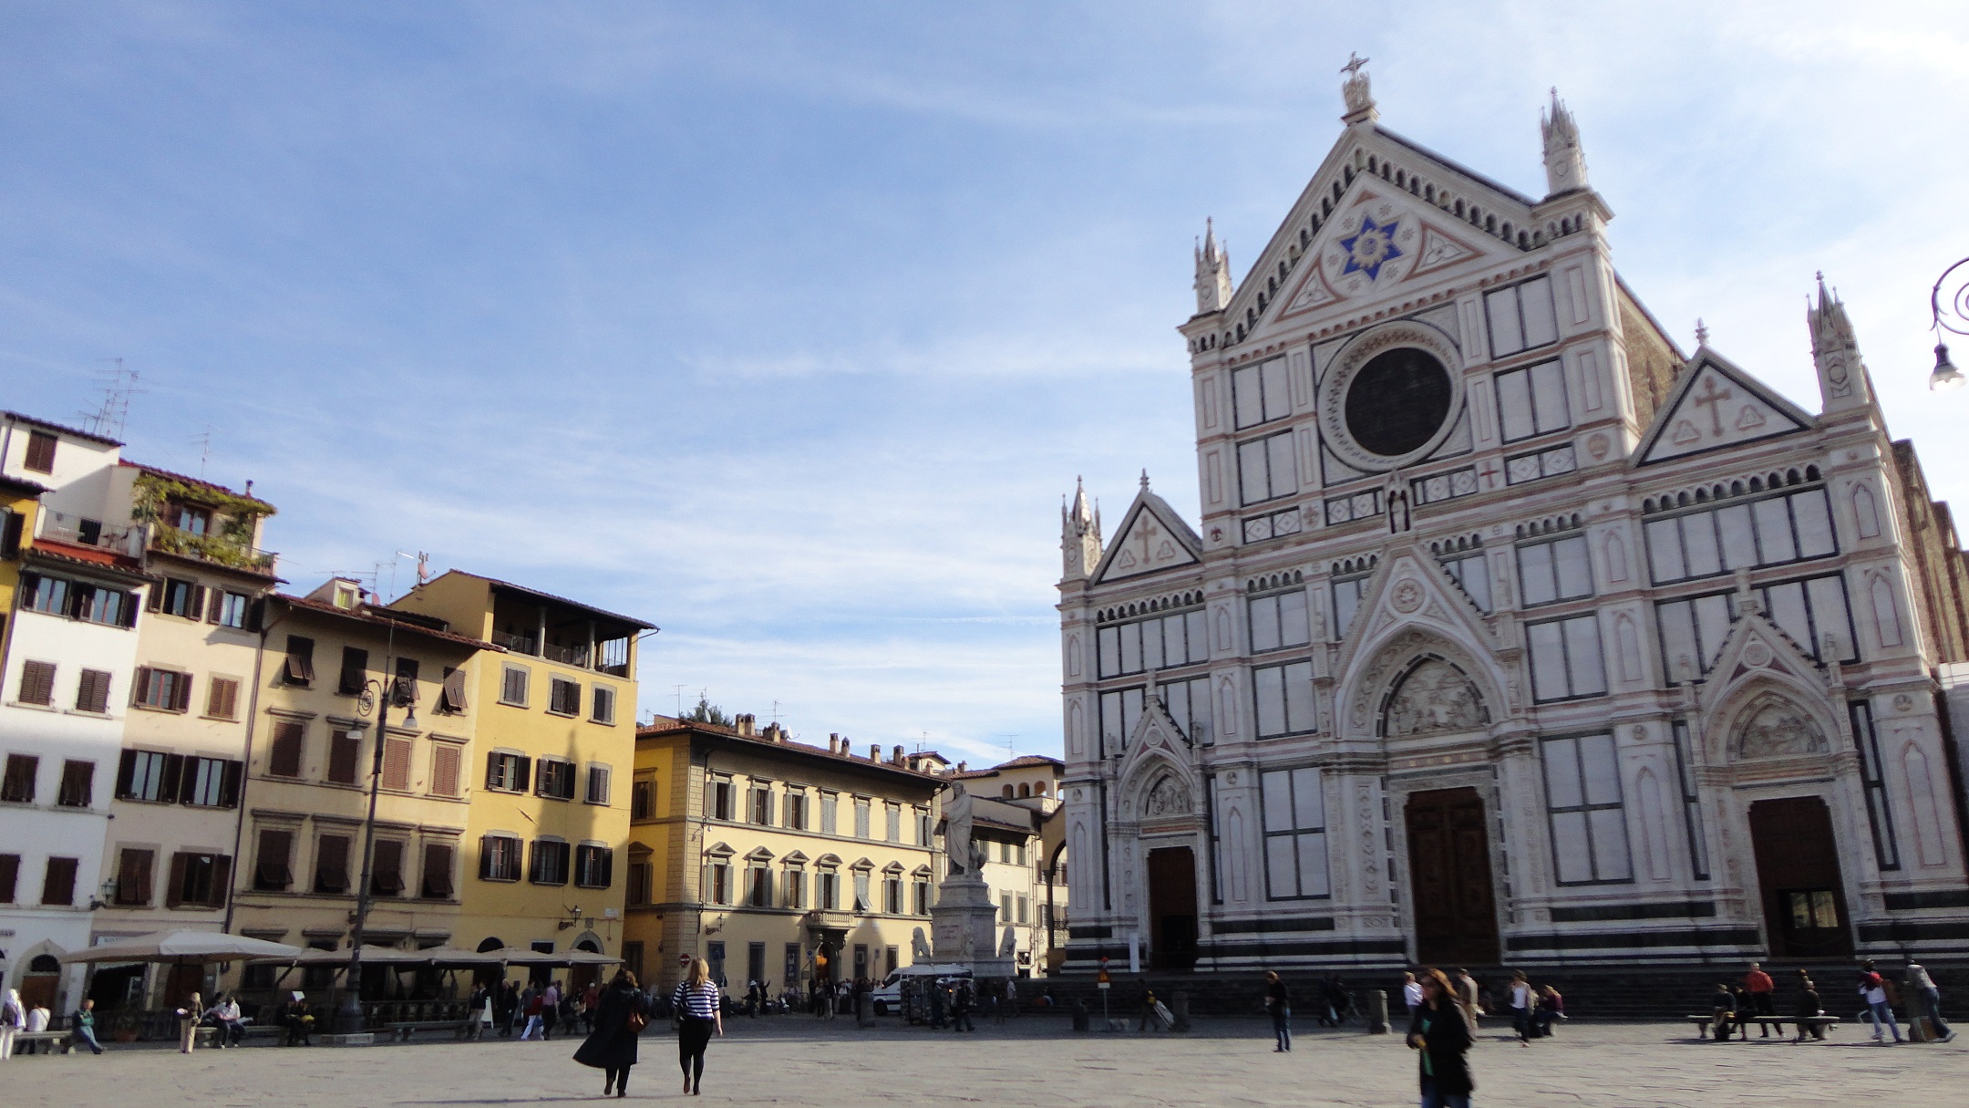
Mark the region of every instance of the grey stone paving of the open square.
[[[711, 1041], [701, 1102], [866, 1104], [1416, 1104], [1416, 1063], [1400, 1035], [1305, 1029], [1274, 1055], [1256, 1019], [1199, 1021], [1189, 1035], [1073, 1035], [1026, 1017], [975, 1035], [851, 1019], [730, 1019]], [[601, 1094], [573, 1041], [419, 1043], [370, 1049], [199, 1051], [110, 1047], [104, 1057], [0, 1063], [0, 1104], [61, 1108], [555, 1104]], [[630, 1100], [675, 1100], [667, 1037], [646, 1037]], [[1701, 1106], [1963, 1104], [1969, 1035], [1876, 1047], [1861, 1027], [1827, 1043], [1697, 1043], [1662, 1023], [1575, 1021], [1530, 1049], [1485, 1031], [1471, 1053], [1477, 1104]]]

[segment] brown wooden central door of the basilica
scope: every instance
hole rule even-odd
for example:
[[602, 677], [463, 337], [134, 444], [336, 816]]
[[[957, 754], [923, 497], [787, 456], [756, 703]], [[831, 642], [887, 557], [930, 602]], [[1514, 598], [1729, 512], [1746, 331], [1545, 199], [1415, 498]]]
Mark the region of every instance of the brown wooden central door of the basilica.
[[1431, 966], [1498, 962], [1491, 836], [1475, 789], [1408, 798], [1408, 873], [1416, 960]]

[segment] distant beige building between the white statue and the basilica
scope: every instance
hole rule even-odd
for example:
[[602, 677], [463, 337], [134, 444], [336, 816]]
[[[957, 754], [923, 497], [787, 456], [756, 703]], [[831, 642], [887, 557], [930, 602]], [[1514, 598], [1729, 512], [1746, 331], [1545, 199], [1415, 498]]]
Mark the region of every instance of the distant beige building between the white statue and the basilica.
[[1018, 976], [1046, 974], [1053, 948], [1065, 946], [1065, 844], [1053, 834], [1048, 848], [1046, 836], [1065, 769], [1055, 757], [1024, 755], [949, 775], [973, 796], [975, 836], [984, 844], [981, 877], [998, 905], [1000, 942], [1012, 929]]

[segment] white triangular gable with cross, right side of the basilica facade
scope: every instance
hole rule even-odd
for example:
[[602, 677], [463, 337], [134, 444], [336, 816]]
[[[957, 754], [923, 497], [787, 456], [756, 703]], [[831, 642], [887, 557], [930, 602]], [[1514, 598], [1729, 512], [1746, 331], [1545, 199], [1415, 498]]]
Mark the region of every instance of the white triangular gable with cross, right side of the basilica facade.
[[1811, 430], [1811, 416], [1723, 355], [1699, 347], [1654, 414], [1636, 465]]

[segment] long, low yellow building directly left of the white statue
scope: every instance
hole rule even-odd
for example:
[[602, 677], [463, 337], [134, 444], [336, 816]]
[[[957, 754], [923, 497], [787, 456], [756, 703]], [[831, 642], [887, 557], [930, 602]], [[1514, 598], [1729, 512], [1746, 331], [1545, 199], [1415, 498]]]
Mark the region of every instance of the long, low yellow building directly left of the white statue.
[[880, 980], [914, 962], [941, 875], [941, 781], [902, 747], [790, 741], [776, 724], [636, 733], [624, 960], [669, 988], [701, 954], [734, 996]]

